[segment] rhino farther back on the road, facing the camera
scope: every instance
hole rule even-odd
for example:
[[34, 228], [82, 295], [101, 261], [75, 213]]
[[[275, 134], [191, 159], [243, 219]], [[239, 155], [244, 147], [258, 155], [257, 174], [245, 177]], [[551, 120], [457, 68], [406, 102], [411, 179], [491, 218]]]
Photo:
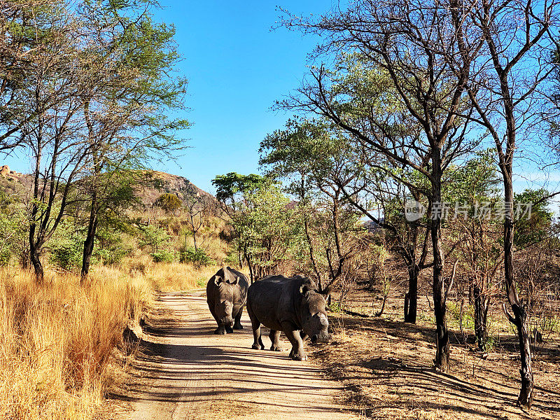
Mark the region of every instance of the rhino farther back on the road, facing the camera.
[[209, 279], [206, 286], [208, 307], [218, 328], [214, 334], [242, 330], [241, 314], [247, 302], [249, 283], [245, 274], [223, 267]]

